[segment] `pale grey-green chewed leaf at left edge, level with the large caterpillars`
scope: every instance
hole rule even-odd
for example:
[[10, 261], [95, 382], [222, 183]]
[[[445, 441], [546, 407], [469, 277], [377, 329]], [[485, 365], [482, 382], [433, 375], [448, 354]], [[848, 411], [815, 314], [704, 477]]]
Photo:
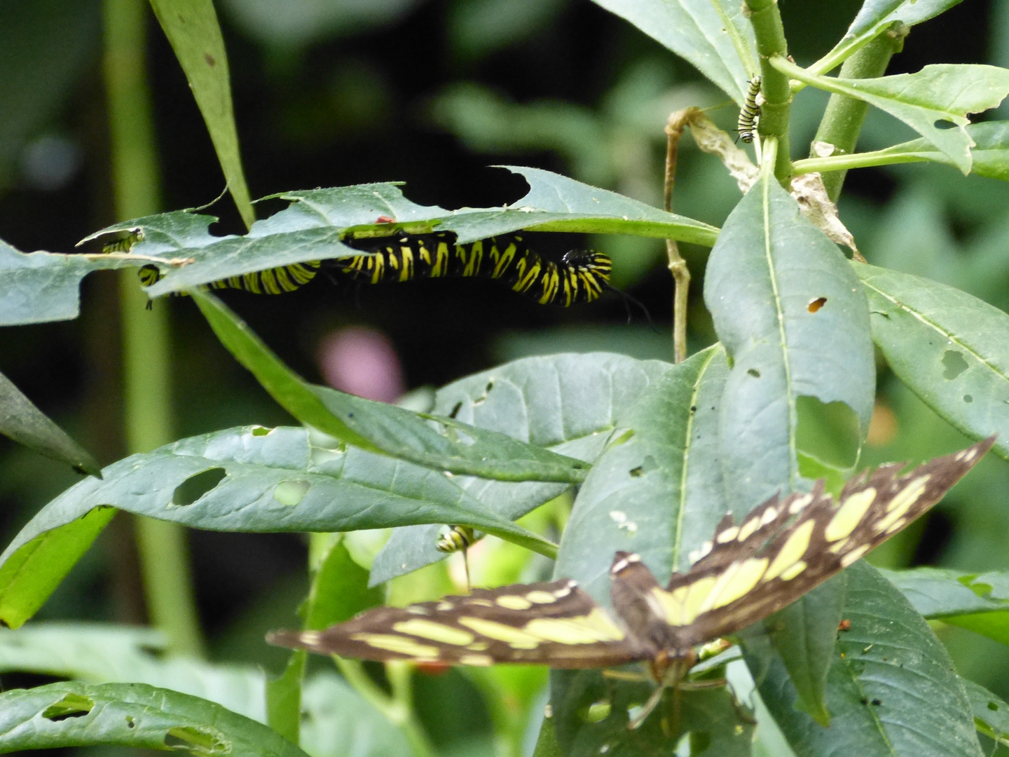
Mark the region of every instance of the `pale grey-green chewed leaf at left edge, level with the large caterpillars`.
[[84, 277], [92, 271], [143, 264], [129, 255], [25, 254], [0, 241], [0, 326], [77, 318]]

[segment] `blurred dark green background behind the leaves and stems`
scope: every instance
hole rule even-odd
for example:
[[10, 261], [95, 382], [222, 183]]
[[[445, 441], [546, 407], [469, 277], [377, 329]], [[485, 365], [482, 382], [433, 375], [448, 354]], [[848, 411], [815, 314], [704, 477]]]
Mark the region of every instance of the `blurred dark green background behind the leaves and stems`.
[[[781, 0], [800, 64], [828, 50], [857, 0]], [[588, 0], [220, 0], [235, 110], [253, 196], [373, 181], [405, 181], [415, 202], [446, 208], [517, 200], [522, 180], [488, 168], [538, 166], [660, 204], [663, 126], [671, 110], [711, 106], [734, 128], [736, 109], [690, 67]], [[224, 187], [203, 120], [166, 40], [148, 23], [150, 85], [165, 210], [203, 205]], [[0, 0], [0, 238], [19, 249], [70, 251], [115, 220], [96, 0]], [[929, 63], [1009, 65], [1009, 0], [967, 0], [915, 27], [889, 73]], [[802, 156], [825, 99], [811, 88], [793, 116]], [[718, 107], [724, 106], [724, 107]], [[1003, 114], [1005, 117], [1005, 114]], [[872, 113], [862, 147], [913, 138]], [[720, 224], [735, 183], [685, 140], [674, 210]], [[241, 233], [223, 201], [215, 233]], [[258, 206], [260, 217], [283, 207]], [[955, 285], [1009, 308], [1009, 185], [911, 165], [849, 176], [842, 218], [870, 262]], [[643, 301], [651, 329], [627, 323], [614, 296], [545, 308], [492, 282], [427, 281], [336, 288], [323, 277], [282, 297], [224, 297], [295, 369], [332, 376], [321, 360], [334, 334], [384, 334], [407, 390], [438, 386], [527, 354], [604, 349], [670, 359], [672, 285], [657, 240], [543, 235], [563, 250], [596, 246], [614, 284]], [[714, 336], [701, 300], [706, 250], [684, 245], [694, 277], [691, 348]], [[173, 322], [176, 428], [289, 423], [216, 342], [187, 300], [158, 303]], [[105, 464], [124, 454], [117, 284], [89, 277], [77, 321], [0, 331], [0, 370]], [[877, 423], [863, 461], [918, 459], [964, 443], [881, 364]], [[75, 473], [0, 438], [4, 541]], [[1009, 568], [1009, 465], [986, 460], [929, 518], [879, 550], [877, 564]], [[117, 521], [39, 618], [142, 622], [129, 524]], [[262, 662], [261, 641], [290, 624], [305, 586], [303, 540], [193, 533], [201, 620], [213, 656]], [[941, 627], [961, 671], [1009, 696], [1009, 654]], [[5, 676], [3, 683], [12, 684]], [[421, 698], [457, 702], [425, 713], [436, 744], [480, 743], [489, 720], [456, 673], [421, 681]], [[436, 712], [437, 711], [437, 712]], [[441, 713], [441, 715], [439, 715]], [[453, 715], [452, 723], [439, 717]], [[460, 713], [469, 717], [460, 718]], [[464, 725], [460, 727], [459, 722]], [[475, 741], [474, 741], [475, 740]]]

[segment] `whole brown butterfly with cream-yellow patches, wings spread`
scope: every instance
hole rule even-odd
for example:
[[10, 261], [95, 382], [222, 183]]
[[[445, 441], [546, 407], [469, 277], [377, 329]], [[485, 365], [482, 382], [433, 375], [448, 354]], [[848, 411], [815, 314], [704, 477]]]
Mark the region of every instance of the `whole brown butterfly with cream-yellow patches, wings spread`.
[[407, 608], [376, 608], [324, 631], [277, 631], [271, 644], [369, 660], [450, 665], [602, 668], [645, 662], [663, 688], [683, 680], [694, 647], [781, 610], [925, 513], [995, 437], [901, 474], [890, 463], [850, 480], [837, 501], [811, 492], [771, 498], [737, 525], [725, 516], [686, 572], [663, 587], [641, 557], [616, 552], [612, 609], [562, 578], [473, 589]]

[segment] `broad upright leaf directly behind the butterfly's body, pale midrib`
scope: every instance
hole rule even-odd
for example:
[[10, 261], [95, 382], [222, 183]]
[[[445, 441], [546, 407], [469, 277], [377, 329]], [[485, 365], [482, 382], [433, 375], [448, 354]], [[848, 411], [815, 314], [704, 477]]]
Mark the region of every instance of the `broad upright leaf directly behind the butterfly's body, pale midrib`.
[[[660, 582], [674, 567], [690, 564], [690, 551], [711, 537], [730, 511], [717, 456], [718, 405], [727, 372], [724, 350], [714, 345], [670, 367], [641, 394], [578, 493], [555, 575], [575, 578], [608, 607], [609, 563], [616, 550], [641, 554]], [[627, 730], [626, 707], [644, 701], [640, 684], [582, 670], [551, 672], [551, 686], [557, 735], [569, 750], [572, 743], [621, 750], [638, 743], [639, 732]], [[608, 717], [586, 723], [576, 712], [591, 704], [583, 701], [582, 692], [603, 689]], [[559, 708], [561, 701], [582, 704]]]

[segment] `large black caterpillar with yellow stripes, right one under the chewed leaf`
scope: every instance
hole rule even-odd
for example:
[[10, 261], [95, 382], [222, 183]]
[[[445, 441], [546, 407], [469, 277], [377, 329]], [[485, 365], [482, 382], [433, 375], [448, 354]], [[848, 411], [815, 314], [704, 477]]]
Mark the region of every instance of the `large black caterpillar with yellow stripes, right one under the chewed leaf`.
[[602, 252], [571, 250], [559, 261], [530, 248], [521, 234], [503, 234], [456, 244], [450, 233], [401, 234], [345, 240], [371, 254], [332, 260], [328, 265], [370, 284], [412, 279], [482, 277], [496, 279], [543, 305], [568, 307], [592, 302], [609, 289], [612, 263]]

